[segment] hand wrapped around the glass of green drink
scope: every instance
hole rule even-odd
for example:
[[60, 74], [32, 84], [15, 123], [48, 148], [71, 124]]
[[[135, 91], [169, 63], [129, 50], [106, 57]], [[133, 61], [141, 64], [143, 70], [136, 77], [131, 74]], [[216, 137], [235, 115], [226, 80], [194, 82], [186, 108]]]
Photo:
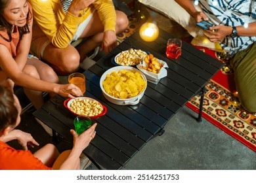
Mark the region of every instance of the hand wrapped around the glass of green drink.
[[74, 129], [71, 129], [70, 132], [72, 133], [73, 137], [74, 137], [74, 149], [79, 150], [79, 152], [83, 151], [91, 142], [91, 140], [93, 140], [93, 138], [95, 138], [96, 135], [96, 131], [95, 131], [95, 127], [97, 124], [93, 124], [91, 127], [89, 127], [89, 129], [87, 129], [86, 131], [84, 131], [83, 133], [81, 133], [81, 135], [77, 135], [77, 133], [74, 131]]

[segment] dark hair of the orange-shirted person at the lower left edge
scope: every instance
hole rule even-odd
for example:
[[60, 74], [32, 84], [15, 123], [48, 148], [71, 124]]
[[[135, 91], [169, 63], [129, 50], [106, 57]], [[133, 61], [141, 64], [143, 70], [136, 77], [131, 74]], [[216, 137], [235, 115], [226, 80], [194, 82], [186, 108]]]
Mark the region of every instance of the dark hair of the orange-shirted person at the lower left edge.
[[14, 105], [13, 93], [5, 86], [0, 86], [0, 131], [16, 125], [18, 109]]

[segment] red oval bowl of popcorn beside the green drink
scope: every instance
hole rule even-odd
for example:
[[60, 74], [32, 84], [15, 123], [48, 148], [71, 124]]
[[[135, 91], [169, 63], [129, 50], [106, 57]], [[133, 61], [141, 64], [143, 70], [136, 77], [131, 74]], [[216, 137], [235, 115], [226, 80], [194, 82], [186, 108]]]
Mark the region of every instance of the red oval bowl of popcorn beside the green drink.
[[68, 98], [64, 101], [64, 107], [75, 116], [89, 116], [92, 119], [103, 116], [108, 111], [106, 106], [90, 97]]

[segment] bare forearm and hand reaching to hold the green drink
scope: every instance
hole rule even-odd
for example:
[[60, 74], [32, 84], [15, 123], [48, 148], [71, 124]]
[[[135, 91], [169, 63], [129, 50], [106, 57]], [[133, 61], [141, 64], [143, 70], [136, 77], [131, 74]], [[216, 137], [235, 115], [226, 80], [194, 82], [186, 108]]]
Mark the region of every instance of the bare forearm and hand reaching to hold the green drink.
[[77, 159], [81, 155], [82, 151], [89, 145], [96, 135], [95, 131], [96, 124], [93, 124], [89, 129], [81, 133], [81, 135], [77, 135], [74, 129], [71, 129], [70, 132], [74, 137], [73, 148], [70, 152], [68, 158], [60, 165], [60, 170], [72, 170], [75, 167], [75, 163], [77, 163]]

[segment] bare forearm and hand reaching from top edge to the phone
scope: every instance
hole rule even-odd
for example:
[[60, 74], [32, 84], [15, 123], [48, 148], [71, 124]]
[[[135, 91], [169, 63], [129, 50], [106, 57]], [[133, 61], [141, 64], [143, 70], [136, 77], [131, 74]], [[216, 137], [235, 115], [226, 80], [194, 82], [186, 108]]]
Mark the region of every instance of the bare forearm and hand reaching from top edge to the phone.
[[182, 8], [184, 8], [194, 19], [196, 22], [200, 22], [202, 20], [209, 20], [209, 18], [203, 13], [194, 7], [194, 4], [191, 0], [175, 0]]

